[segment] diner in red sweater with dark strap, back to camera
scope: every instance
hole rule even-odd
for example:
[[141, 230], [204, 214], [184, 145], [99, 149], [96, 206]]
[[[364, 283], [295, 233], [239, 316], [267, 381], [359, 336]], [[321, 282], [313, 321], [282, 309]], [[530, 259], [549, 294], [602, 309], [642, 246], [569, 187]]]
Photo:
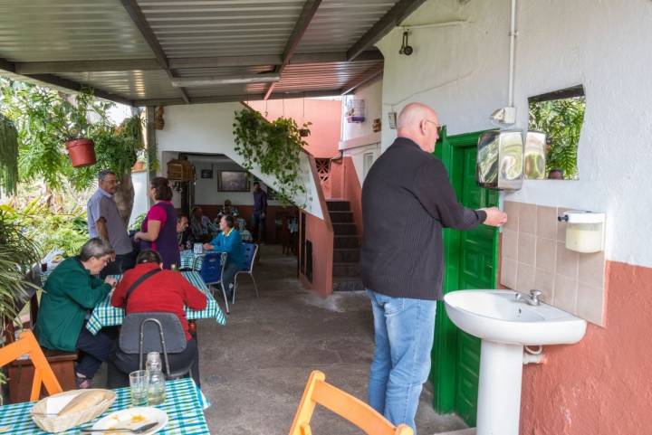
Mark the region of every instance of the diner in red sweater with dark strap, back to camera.
[[[127, 291], [137, 279], [151, 270], [157, 269], [161, 271], [141, 281], [127, 295]], [[161, 260], [161, 256], [157, 251], [140, 251], [136, 258], [136, 267], [125, 272], [120, 284], [113, 292], [111, 305], [113, 307], [124, 307], [126, 314], [163, 312], [177, 315], [186, 333], [187, 346], [186, 350], [179, 354], [168, 355], [170, 371], [173, 372], [179, 367], [187, 366], [194, 360], [192, 372], [195, 383], [198, 385], [197, 340], [188, 332], [184, 306], [192, 309], [204, 309], [206, 308], [206, 296], [190, 284], [180, 273], [162, 269], [163, 260]], [[139, 355], [125, 354], [120, 348], [116, 349], [111, 362], [122, 373], [122, 376], [120, 376], [120, 374], [111, 371], [111, 378], [119, 378], [118, 380], [110, 380], [111, 388], [126, 386], [129, 384], [127, 375], [139, 370]]]

